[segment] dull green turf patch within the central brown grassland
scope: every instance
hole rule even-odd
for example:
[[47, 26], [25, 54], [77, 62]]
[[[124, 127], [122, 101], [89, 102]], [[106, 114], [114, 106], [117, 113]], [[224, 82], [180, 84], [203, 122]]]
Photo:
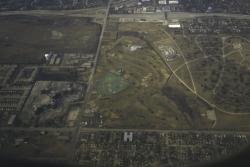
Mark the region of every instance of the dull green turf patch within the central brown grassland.
[[129, 83], [120, 75], [108, 73], [97, 81], [97, 93], [100, 96], [117, 94], [129, 86]]

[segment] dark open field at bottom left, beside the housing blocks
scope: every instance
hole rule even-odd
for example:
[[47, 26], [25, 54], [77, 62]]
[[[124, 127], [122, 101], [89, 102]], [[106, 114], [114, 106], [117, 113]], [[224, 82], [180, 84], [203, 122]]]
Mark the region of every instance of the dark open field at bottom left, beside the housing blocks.
[[1, 131], [0, 154], [17, 158], [66, 160], [72, 132]]

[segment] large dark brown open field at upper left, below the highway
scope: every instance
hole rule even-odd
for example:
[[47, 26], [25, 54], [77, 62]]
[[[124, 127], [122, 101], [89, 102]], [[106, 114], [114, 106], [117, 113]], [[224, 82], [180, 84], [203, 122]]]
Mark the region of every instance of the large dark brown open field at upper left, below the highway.
[[41, 63], [47, 52], [93, 52], [100, 25], [88, 18], [0, 16], [0, 62]]

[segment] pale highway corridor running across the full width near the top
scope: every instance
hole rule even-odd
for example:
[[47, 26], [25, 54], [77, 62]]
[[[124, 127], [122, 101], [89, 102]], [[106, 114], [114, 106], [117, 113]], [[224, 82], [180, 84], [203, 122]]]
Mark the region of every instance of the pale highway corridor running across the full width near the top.
[[[0, 12], [0, 16], [5, 15], [58, 15], [58, 16], [72, 16], [72, 17], [93, 17], [103, 18], [105, 17], [104, 7], [98, 7], [93, 9], [78, 9], [78, 10], [26, 10], [26, 11], [3, 11]], [[167, 20], [186, 20], [195, 17], [202, 16], [220, 16], [231, 17], [237, 19], [250, 19], [250, 15], [242, 14], [228, 14], [228, 13], [191, 13], [191, 12], [166, 12]], [[136, 13], [136, 14], [110, 14], [110, 18], [134, 18], [134, 19], [148, 19], [148, 20], [165, 20], [165, 12], [157, 13]]]

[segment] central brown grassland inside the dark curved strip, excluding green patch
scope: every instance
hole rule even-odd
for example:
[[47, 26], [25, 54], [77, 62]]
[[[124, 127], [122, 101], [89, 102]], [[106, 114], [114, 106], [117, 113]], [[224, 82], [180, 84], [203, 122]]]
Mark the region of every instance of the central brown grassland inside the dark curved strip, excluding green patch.
[[[140, 45], [142, 48], [131, 52], [129, 45]], [[126, 90], [106, 98], [95, 98], [91, 102], [91, 105], [97, 107], [104, 115], [106, 120], [104, 126], [127, 128], [175, 126], [176, 114], [164, 112], [166, 109], [172, 110], [174, 106], [169, 107], [164, 104], [162, 99], [164, 97], [160, 91], [169, 74], [160, 58], [146, 43], [139, 38], [124, 36], [112, 49], [103, 52], [96, 79], [122, 69], [122, 77], [129, 83]]]

